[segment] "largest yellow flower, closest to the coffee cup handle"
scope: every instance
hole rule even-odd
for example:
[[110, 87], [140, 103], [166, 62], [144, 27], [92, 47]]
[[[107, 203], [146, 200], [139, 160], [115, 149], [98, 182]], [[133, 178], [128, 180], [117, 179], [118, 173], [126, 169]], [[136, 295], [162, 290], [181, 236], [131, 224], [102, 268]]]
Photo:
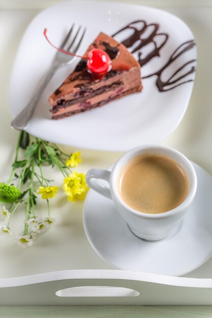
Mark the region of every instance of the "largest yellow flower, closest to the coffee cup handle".
[[85, 174], [73, 171], [72, 174], [64, 179], [63, 189], [69, 201], [83, 200], [88, 190]]

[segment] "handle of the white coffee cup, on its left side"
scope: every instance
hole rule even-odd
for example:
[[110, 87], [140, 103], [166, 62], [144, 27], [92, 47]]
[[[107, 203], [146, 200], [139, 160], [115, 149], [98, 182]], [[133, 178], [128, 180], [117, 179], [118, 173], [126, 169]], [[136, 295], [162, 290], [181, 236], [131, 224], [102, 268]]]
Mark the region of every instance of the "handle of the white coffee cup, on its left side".
[[90, 188], [100, 195], [112, 200], [110, 188], [98, 182], [97, 179], [102, 179], [109, 183], [110, 171], [104, 169], [90, 169], [86, 174], [86, 182]]

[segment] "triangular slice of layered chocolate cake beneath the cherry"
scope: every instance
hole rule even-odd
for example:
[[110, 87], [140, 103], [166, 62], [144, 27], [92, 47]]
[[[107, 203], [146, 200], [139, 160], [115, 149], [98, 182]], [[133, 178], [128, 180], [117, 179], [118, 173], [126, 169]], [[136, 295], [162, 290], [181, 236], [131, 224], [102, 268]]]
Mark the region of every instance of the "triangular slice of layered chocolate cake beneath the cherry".
[[104, 76], [95, 77], [87, 71], [87, 61], [81, 59], [65, 82], [49, 97], [52, 119], [102, 106], [142, 89], [140, 65], [127, 48], [104, 33], [88, 47], [99, 48], [111, 58], [111, 70]]

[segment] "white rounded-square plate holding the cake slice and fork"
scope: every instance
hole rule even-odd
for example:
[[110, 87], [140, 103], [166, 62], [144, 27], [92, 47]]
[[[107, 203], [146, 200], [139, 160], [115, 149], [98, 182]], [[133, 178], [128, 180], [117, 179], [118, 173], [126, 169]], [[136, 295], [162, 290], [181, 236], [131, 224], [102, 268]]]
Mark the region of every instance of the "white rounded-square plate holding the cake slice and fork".
[[[137, 20], [145, 20], [147, 28], [141, 31], [141, 40], [129, 48], [132, 51], [137, 44], [142, 44], [143, 47], [134, 53], [135, 58], [138, 58], [139, 53], [144, 58], [153, 52], [166, 39], [164, 33], [168, 35], [159, 50], [159, 56], [151, 58], [141, 68], [142, 77], [164, 68], [160, 77], [162, 81], [172, 77], [170, 81], [174, 82], [164, 86], [168, 90], [159, 91], [156, 85], [158, 76], [153, 75], [143, 79], [140, 93], [72, 117], [51, 120], [48, 97], [74, 70], [79, 61], [75, 58], [70, 66], [60, 68], [47, 85], [27, 125], [28, 133], [60, 144], [109, 151], [125, 151], [144, 143], [158, 143], [171, 134], [184, 116], [193, 88], [196, 60], [194, 36], [179, 18], [165, 11], [142, 6], [72, 1], [42, 11], [28, 26], [17, 52], [9, 89], [10, 109], [16, 116], [24, 108], [51, 65], [56, 51], [43, 36], [45, 27], [51, 41], [59, 45], [73, 22], [76, 27], [86, 26], [86, 35], [78, 51], [78, 54], [83, 54], [100, 31], [113, 35]], [[159, 28], [149, 25], [152, 23], [159, 24]], [[144, 23], [138, 22], [133, 26], [141, 30]], [[123, 41], [132, 32], [132, 28], [127, 29], [115, 38]], [[145, 45], [145, 39], [153, 34], [152, 41]], [[187, 41], [191, 42], [181, 46]], [[165, 67], [171, 56], [173, 61]], [[191, 73], [178, 79], [187, 72]], [[185, 83], [181, 85], [182, 82]], [[171, 87], [173, 89], [169, 89]]]

